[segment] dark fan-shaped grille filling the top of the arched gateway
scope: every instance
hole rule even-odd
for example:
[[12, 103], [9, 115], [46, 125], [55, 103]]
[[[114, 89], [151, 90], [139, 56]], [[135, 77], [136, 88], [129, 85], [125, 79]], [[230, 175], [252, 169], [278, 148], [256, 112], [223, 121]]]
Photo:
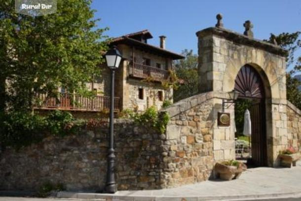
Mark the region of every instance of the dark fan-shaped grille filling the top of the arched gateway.
[[243, 66], [235, 79], [234, 89], [240, 98], [263, 98], [263, 81], [259, 73], [250, 65]]

